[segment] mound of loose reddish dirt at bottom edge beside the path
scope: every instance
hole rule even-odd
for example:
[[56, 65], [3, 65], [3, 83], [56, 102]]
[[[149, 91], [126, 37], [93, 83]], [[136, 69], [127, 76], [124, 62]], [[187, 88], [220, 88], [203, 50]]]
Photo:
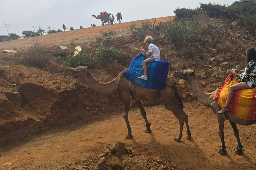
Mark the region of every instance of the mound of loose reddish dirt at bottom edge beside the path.
[[173, 165], [166, 165], [157, 157], [149, 157], [144, 153], [134, 153], [132, 148], [123, 142], [107, 146], [89, 158], [73, 162], [62, 169], [66, 170], [172, 170]]

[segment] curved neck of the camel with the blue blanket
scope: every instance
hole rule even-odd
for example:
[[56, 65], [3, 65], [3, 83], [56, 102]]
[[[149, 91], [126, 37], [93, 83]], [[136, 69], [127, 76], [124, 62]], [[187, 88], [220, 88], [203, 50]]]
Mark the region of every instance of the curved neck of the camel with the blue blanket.
[[118, 83], [118, 78], [116, 77], [114, 80], [108, 83], [100, 83], [96, 81], [93, 77], [89, 78], [81, 78], [83, 82], [87, 84], [92, 90], [102, 93], [102, 94], [115, 94], [117, 93], [116, 85]]

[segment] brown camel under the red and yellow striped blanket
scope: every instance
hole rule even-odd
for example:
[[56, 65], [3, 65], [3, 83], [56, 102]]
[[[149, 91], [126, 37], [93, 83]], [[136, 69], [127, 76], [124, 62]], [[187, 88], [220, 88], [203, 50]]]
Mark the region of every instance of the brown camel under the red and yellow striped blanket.
[[[216, 93], [219, 91], [220, 87], [211, 93], [206, 93], [205, 91], [203, 91], [198, 80], [197, 80], [195, 70], [188, 69], [188, 70], [184, 70], [184, 71], [176, 71], [173, 74], [173, 76], [178, 77], [179, 79], [186, 80], [189, 83], [189, 85], [191, 86], [192, 91], [194, 92], [194, 95], [197, 98], [197, 100], [201, 104], [203, 104], [207, 107], [211, 107], [215, 114], [221, 109], [220, 105], [214, 100], [214, 97], [215, 97]], [[256, 123], [256, 120], [251, 120], [251, 121], [242, 120], [242, 119], [234, 117], [230, 113], [228, 113], [228, 115], [217, 114], [217, 117], [218, 117], [218, 122], [219, 122], [219, 136], [220, 136], [221, 143], [222, 143], [222, 148], [219, 150], [219, 153], [221, 155], [225, 155], [227, 153], [226, 145], [225, 145], [225, 141], [224, 141], [224, 131], [223, 131], [225, 119], [227, 119], [233, 128], [234, 135], [235, 135], [235, 137], [237, 139], [237, 143], [238, 143], [238, 146], [236, 147], [235, 152], [237, 154], [243, 154], [244, 153], [243, 146], [240, 142], [239, 132], [238, 132], [236, 124], [243, 125], [243, 126], [253, 125]]]

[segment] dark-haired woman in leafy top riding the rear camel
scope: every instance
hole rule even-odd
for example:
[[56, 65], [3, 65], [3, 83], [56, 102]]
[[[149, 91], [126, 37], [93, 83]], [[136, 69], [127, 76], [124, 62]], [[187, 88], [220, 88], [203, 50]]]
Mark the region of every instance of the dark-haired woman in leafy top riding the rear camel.
[[[256, 87], [256, 51], [255, 48], [249, 47], [246, 49], [245, 58], [248, 64], [244, 70], [237, 70], [235, 72], [230, 70], [230, 74], [237, 76], [239, 83], [234, 84], [228, 88], [228, 96], [224, 107], [217, 112], [217, 114], [223, 114], [228, 112], [228, 105], [234, 95], [235, 90], [252, 89]], [[238, 73], [241, 74], [238, 74]]]

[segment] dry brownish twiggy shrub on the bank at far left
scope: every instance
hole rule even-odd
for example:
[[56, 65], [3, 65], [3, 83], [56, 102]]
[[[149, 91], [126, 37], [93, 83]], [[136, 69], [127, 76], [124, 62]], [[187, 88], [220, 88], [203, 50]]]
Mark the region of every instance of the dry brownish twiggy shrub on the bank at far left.
[[51, 58], [46, 55], [44, 48], [40, 46], [38, 42], [17, 55], [20, 55], [19, 58], [21, 63], [38, 68], [47, 67], [51, 60]]

